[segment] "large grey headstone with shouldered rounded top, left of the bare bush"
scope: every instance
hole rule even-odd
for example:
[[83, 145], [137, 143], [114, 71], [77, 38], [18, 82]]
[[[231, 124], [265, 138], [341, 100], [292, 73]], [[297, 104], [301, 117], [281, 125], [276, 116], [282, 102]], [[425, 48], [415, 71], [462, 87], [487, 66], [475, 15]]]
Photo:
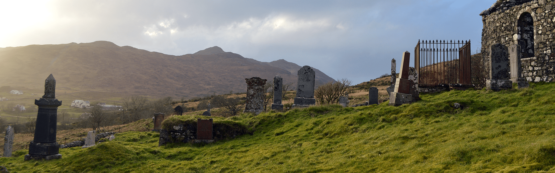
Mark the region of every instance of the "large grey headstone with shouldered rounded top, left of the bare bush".
[[297, 95], [295, 97], [293, 107], [305, 108], [309, 105], [315, 105], [316, 99], [314, 99], [314, 83], [315, 83], [315, 73], [314, 70], [305, 65], [299, 71], [297, 71]]

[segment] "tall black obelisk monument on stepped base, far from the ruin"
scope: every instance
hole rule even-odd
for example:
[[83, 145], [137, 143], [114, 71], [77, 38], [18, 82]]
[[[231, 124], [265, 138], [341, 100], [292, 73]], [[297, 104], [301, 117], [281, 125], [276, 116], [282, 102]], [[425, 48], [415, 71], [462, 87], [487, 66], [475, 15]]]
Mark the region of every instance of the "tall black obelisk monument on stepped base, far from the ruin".
[[56, 121], [58, 106], [62, 105], [62, 101], [56, 99], [56, 79], [52, 74], [45, 81], [44, 95], [35, 100], [35, 104], [38, 106], [37, 123], [25, 160], [60, 159], [62, 155], [58, 153], [60, 145], [56, 142]]

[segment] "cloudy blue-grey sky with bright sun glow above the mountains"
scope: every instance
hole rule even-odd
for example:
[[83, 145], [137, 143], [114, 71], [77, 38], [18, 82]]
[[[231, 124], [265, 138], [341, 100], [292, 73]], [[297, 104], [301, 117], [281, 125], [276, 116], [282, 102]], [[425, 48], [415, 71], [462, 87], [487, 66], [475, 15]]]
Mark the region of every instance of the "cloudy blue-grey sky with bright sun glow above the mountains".
[[218, 46], [261, 62], [285, 59], [359, 84], [390, 73], [418, 40], [471, 40], [496, 0], [0, 0], [0, 47], [90, 43], [170, 55]]

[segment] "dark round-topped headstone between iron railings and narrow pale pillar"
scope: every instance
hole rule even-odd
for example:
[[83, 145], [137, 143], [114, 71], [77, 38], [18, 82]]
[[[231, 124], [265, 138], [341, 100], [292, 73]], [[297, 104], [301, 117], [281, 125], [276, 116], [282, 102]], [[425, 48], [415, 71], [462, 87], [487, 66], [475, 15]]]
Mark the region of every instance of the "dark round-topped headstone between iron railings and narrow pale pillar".
[[486, 80], [486, 89], [499, 91], [513, 88], [509, 76], [508, 48], [497, 43], [490, 47], [490, 79]]

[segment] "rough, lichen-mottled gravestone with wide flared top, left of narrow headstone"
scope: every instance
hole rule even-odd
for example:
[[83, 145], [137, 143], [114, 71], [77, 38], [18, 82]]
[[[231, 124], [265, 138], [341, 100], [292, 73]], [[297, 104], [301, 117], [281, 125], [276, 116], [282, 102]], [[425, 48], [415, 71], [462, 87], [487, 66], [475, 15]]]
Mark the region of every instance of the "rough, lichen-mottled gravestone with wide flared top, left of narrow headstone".
[[244, 113], [254, 113], [256, 115], [264, 111], [264, 85], [266, 79], [253, 77], [246, 80], [246, 101]]

